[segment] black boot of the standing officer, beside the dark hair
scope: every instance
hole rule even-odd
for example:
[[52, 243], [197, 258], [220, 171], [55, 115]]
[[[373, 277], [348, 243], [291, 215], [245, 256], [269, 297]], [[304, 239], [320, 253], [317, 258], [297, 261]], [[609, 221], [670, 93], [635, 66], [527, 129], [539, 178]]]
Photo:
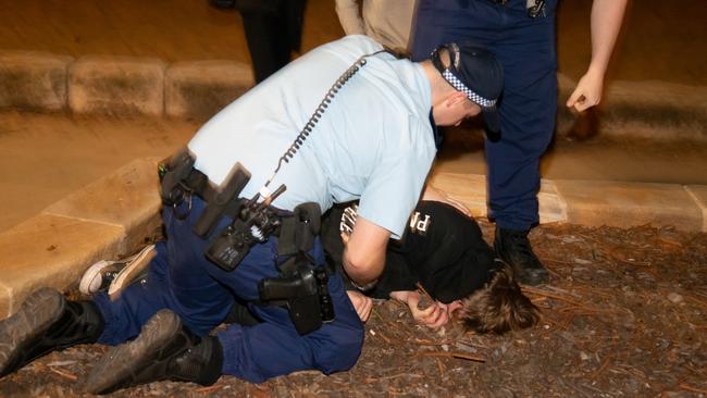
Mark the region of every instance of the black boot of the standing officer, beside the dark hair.
[[511, 265], [518, 281], [525, 285], [539, 285], [549, 279], [547, 269], [541, 263], [528, 240], [530, 231], [496, 228], [496, 254]]

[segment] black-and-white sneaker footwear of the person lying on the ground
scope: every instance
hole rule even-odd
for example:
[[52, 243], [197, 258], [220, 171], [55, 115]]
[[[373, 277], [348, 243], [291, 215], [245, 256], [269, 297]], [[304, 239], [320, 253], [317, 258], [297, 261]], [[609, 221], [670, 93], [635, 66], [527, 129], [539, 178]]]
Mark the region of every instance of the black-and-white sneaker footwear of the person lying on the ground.
[[145, 271], [154, 254], [154, 245], [150, 245], [123, 260], [98, 261], [84, 272], [78, 283], [78, 291], [88, 296], [108, 291], [109, 295], [115, 296]]

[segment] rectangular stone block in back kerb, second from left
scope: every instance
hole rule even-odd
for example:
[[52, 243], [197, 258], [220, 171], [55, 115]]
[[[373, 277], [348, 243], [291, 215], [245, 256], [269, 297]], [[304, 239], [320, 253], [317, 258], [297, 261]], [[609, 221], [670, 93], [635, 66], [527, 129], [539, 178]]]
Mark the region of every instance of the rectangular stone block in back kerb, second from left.
[[82, 57], [69, 70], [69, 107], [76, 113], [161, 116], [164, 69], [158, 59]]

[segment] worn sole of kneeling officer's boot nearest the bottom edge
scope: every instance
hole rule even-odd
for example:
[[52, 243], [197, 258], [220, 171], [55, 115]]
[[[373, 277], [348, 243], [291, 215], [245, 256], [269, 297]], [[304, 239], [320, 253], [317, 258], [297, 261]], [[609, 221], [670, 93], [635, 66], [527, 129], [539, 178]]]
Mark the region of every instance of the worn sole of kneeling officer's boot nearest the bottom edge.
[[107, 394], [137, 381], [147, 365], [163, 358], [182, 328], [182, 321], [170, 310], [158, 311], [142, 325], [136, 339], [111, 349], [94, 368], [85, 383], [91, 394]]

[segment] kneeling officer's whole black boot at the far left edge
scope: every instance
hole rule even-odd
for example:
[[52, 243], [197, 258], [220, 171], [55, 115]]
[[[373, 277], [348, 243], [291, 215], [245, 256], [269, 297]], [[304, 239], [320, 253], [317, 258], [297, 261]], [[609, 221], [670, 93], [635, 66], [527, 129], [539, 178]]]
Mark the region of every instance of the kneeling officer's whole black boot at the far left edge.
[[92, 301], [66, 301], [51, 288], [34, 291], [0, 322], [0, 377], [54, 350], [96, 343], [103, 316]]

